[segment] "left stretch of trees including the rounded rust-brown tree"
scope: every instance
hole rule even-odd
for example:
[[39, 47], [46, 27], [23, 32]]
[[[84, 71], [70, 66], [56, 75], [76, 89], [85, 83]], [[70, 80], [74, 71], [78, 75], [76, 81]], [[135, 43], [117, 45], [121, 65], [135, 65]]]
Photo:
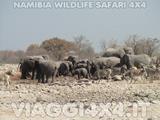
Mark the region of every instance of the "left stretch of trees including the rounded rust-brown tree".
[[53, 60], [63, 60], [69, 55], [79, 58], [92, 58], [95, 51], [89, 40], [82, 35], [74, 38], [74, 41], [68, 41], [60, 38], [51, 38], [44, 40], [40, 45], [31, 44], [23, 51], [0, 51], [1, 63], [18, 63], [21, 58], [31, 55], [49, 55]]

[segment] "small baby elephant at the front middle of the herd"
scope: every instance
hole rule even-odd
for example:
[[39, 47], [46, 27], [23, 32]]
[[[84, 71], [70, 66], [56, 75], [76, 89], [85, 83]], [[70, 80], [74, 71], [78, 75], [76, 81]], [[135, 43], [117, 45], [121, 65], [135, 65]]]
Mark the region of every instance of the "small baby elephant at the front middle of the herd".
[[77, 69], [75, 69], [74, 75], [78, 75], [78, 79], [80, 79], [81, 76], [83, 76], [83, 78], [89, 78], [88, 71], [87, 71], [86, 68], [77, 68]]

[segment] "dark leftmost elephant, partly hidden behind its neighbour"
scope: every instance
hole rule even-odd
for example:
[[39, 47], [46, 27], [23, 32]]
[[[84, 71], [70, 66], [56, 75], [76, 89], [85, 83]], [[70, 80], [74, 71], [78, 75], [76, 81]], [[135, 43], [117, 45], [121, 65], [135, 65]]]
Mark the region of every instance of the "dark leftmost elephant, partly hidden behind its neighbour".
[[49, 59], [48, 56], [26, 56], [25, 58], [20, 60], [18, 67], [21, 71], [21, 79], [27, 79], [30, 76], [30, 72], [32, 72], [32, 79], [34, 79], [34, 65], [35, 61], [46, 60]]

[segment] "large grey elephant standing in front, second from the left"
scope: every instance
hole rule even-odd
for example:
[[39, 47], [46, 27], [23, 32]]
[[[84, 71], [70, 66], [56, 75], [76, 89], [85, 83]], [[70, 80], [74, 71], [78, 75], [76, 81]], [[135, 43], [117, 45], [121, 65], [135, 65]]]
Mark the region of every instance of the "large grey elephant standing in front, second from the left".
[[[52, 83], [58, 72], [57, 64], [51, 60], [35, 61], [35, 68], [38, 73], [38, 82]], [[48, 79], [52, 77], [51, 82]], [[46, 79], [45, 79], [46, 78]]]

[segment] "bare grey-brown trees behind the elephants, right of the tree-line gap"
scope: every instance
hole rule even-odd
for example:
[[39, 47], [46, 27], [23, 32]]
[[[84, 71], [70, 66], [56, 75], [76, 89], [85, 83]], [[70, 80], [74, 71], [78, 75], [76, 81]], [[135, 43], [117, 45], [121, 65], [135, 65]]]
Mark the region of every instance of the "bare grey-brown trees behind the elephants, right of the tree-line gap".
[[147, 54], [150, 57], [160, 56], [160, 40], [157, 38], [145, 38], [138, 35], [131, 35], [122, 44], [116, 40], [101, 41], [102, 52], [107, 48], [131, 47], [134, 54]]

